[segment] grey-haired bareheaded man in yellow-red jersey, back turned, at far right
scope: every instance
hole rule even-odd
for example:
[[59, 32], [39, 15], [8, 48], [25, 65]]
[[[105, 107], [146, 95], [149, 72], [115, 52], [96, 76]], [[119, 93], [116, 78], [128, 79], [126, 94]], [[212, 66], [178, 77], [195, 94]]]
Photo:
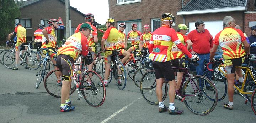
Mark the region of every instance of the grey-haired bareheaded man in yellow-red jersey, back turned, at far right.
[[241, 66], [244, 62], [245, 57], [250, 53], [250, 46], [246, 41], [244, 33], [235, 29], [235, 19], [231, 16], [226, 16], [223, 19], [224, 29], [220, 31], [214, 39], [213, 48], [210, 51], [210, 62], [214, 62], [214, 55], [218, 46], [222, 47], [224, 68], [226, 72], [226, 77], [228, 80], [228, 100], [229, 102], [223, 104], [227, 109], [233, 109], [233, 95], [234, 95], [234, 76], [235, 72], [239, 76], [239, 82], [243, 82], [244, 78], [242, 76], [241, 68], [236, 68], [236, 66]]

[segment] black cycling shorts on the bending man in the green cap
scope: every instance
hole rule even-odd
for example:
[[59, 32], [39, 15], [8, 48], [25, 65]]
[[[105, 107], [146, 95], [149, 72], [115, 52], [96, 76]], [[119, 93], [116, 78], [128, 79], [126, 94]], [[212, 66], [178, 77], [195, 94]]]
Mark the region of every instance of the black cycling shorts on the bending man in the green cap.
[[62, 72], [63, 80], [70, 81], [74, 71], [74, 59], [69, 55], [58, 55], [56, 65]]

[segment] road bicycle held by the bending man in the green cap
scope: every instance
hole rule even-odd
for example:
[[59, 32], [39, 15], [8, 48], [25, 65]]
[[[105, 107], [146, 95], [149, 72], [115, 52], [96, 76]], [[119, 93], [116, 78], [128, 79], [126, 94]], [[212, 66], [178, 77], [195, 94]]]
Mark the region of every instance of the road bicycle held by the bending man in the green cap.
[[[74, 68], [77, 68], [77, 71], [73, 72], [73, 77], [71, 77], [71, 88], [70, 95], [77, 90], [78, 98], [80, 100], [82, 93], [85, 101], [93, 106], [99, 107], [103, 104], [106, 97], [106, 88], [103, 84], [103, 80], [100, 75], [95, 71], [88, 71], [86, 69], [86, 63], [84, 59], [91, 57], [87, 55], [86, 57], [79, 55], [76, 63], [74, 63]], [[59, 75], [59, 76], [56, 76]], [[51, 71], [44, 81], [44, 87], [50, 95], [61, 98], [61, 88], [62, 88], [62, 74], [59, 69]], [[89, 84], [91, 83], [91, 85]], [[98, 84], [103, 86], [99, 86]]]

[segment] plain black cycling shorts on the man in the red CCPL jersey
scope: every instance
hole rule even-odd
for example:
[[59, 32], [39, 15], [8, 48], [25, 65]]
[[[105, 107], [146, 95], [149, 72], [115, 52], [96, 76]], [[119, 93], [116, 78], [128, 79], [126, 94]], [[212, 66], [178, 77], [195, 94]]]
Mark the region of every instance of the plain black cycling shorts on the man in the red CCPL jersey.
[[165, 78], [167, 82], [175, 79], [171, 61], [166, 61], [166, 62], [153, 61], [152, 64], [155, 70], [156, 79]]

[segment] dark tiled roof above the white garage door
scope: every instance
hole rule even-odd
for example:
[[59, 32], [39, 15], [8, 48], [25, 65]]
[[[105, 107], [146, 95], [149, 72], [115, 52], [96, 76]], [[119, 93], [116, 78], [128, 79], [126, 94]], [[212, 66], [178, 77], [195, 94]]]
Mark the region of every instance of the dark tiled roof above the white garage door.
[[181, 11], [246, 6], [247, 0], [190, 0]]

